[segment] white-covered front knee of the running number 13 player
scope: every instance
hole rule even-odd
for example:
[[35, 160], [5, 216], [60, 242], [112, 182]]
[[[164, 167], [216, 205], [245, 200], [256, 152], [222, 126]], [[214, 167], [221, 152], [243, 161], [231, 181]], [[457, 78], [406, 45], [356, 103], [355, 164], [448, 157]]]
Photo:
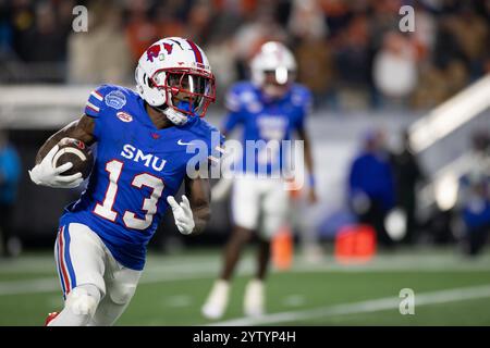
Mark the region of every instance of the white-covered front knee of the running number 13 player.
[[65, 308], [75, 315], [94, 316], [100, 301], [100, 291], [95, 286], [77, 286], [68, 296]]

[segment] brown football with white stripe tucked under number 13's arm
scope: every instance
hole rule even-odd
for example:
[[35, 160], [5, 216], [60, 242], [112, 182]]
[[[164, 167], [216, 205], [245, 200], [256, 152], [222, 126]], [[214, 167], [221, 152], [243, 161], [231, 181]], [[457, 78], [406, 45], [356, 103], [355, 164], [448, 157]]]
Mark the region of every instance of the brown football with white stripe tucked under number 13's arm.
[[73, 175], [79, 172], [84, 179], [87, 178], [94, 166], [94, 157], [85, 142], [73, 138], [63, 138], [58, 146], [60, 149], [52, 158], [53, 166], [58, 167], [68, 162], [73, 163], [70, 170], [60, 175]]

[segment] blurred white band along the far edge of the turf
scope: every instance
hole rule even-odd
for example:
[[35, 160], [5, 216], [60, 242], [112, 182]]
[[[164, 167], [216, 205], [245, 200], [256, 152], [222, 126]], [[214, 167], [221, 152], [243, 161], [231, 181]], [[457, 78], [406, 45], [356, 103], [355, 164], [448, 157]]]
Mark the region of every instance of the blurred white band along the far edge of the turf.
[[[166, 264], [159, 264], [158, 261], [163, 262], [157, 258], [150, 259], [148, 266], [145, 269], [140, 284], [154, 284], [173, 281], [187, 281], [198, 278], [213, 278], [217, 276], [220, 269], [220, 259], [218, 257], [198, 258], [196, 260], [182, 259], [180, 262], [169, 260]], [[33, 261], [33, 260], [32, 260]], [[341, 265], [334, 263], [333, 260], [327, 260], [319, 264], [304, 263], [298, 260], [293, 268], [282, 273], [309, 273], [309, 272], [478, 272], [490, 271], [490, 264], [479, 260], [480, 262], [462, 262], [454, 256], [439, 256], [439, 257], [418, 257], [407, 258], [406, 256], [379, 257], [370, 263], [366, 264], [351, 264]], [[237, 275], [250, 275], [255, 270], [255, 260], [247, 257], [241, 261], [237, 269]], [[22, 272], [22, 271], [20, 271]], [[275, 272], [272, 270], [272, 272]], [[56, 274], [54, 271], [50, 273]], [[279, 273], [279, 272], [278, 272]], [[13, 274], [12, 271], [1, 274]], [[40, 273], [46, 275], [45, 272]], [[59, 291], [60, 282], [58, 277], [36, 277], [29, 279], [12, 279], [0, 282], [0, 296], [19, 295], [19, 294], [36, 294]]]

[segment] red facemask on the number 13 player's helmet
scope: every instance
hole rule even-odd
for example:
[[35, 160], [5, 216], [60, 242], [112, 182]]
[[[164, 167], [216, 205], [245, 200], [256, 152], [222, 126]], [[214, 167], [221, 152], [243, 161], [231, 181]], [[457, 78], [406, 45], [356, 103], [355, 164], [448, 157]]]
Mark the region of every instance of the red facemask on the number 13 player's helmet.
[[185, 115], [203, 117], [216, 100], [215, 76], [193, 69], [163, 69], [150, 78], [163, 94], [166, 104]]

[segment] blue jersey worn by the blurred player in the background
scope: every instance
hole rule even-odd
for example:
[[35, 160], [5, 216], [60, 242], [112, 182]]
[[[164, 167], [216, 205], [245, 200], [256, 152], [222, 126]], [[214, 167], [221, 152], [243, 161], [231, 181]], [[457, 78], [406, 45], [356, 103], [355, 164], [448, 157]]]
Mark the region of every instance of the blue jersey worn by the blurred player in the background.
[[[270, 174], [284, 170], [289, 153], [283, 149], [283, 140], [291, 140], [293, 130], [304, 127], [311, 109], [309, 90], [294, 84], [283, 98], [270, 101], [254, 84], [242, 82], [232, 86], [225, 102], [229, 113], [223, 130], [231, 132], [236, 125], [244, 127], [244, 152], [235, 171]], [[248, 146], [247, 140], [252, 140]], [[253, 141], [255, 147], [250, 146]]]

